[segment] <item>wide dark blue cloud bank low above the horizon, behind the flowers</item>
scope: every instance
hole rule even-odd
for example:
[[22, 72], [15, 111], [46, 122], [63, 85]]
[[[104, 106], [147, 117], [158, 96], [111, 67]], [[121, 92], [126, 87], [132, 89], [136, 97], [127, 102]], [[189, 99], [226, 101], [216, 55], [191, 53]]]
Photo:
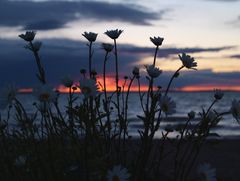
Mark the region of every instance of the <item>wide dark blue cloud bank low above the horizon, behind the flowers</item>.
[[[36, 37], [37, 38], [37, 37]], [[76, 80], [80, 78], [79, 70], [88, 67], [88, 49], [86, 42], [66, 39], [42, 40], [43, 46], [40, 50], [42, 63], [46, 69], [46, 77], [49, 83], [58, 85], [64, 75], [71, 75]], [[34, 57], [29, 50], [24, 49], [26, 42], [21, 40], [0, 39], [0, 82], [1, 85], [15, 82], [20, 87], [32, 87], [38, 84], [35, 77], [37, 67]], [[161, 57], [176, 55], [182, 51], [188, 53], [221, 51], [220, 48], [167, 48], [161, 49]], [[127, 51], [128, 50], [128, 51]], [[120, 76], [131, 75], [133, 64], [136, 64], [144, 56], [154, 53], [154, 48], [135, 47], [133, 45], [119, 45], [119, 72]], [[164, 53], [165, 52], [165, 53]], [[102, 74], [104, 51], [100, 44], [94, 44], [93, 68], [99, 75]], [[113, 74], [115, 70], [113, 54], [107, 62], [107, 71]], [[166, 86], [172, 72], [164, 72], [156, 84]], [[144, 77], [144, 76], [142, 76]], [[197, 83], [234, 83], [239, 80], [240, 73], [213, 73], [211, 71], [189, 71], [180, 74], [178, 81], [174, 82], [175, 87], [182, 87]], [[236, 83], [235, 83], [236, 84]]]

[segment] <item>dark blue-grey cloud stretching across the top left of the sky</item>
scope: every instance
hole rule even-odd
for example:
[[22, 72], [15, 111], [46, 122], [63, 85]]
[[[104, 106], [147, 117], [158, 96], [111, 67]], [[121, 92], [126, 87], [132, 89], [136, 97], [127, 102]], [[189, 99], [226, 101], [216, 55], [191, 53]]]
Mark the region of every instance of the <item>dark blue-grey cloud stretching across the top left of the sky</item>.
[[23, 26], [24, 29], [61, 28], [74, 20], [123, 21], [150, 25], [165, 11], [149, 12], [136, 5], [87, 1], [0, 1], [0, 26]]

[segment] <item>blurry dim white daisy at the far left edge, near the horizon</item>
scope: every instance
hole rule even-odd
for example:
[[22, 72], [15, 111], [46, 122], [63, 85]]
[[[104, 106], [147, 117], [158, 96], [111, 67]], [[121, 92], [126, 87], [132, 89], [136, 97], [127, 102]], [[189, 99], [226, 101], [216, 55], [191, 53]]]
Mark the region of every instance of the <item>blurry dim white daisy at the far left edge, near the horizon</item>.
[[5, 109], [15, 99], [17, 89], [14, 85], [8, 85], [0, 93], [0, 109]]

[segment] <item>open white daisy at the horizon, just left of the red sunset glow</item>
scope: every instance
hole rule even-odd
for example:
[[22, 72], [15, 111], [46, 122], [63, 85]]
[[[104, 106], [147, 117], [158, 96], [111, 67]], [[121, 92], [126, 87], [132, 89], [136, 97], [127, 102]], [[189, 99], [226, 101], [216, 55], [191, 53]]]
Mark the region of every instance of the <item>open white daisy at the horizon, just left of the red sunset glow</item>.
[[85, 97], [95, 97], [98, 92], [98, 86], [96, 81], [93, 79], [81, 79], [80, 83], [80, 90], [84, 94]]

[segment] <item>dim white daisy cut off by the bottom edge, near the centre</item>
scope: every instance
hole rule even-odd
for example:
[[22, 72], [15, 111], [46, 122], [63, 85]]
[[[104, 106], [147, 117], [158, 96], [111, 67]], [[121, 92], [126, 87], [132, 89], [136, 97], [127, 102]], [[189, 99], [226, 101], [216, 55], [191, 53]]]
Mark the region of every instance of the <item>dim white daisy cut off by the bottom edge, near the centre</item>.
[[107, 173], [108, 181], [128, 181], [130, 174], [128, 170], [121, 165], [116, 165], [112, 170], [109, 170]]

